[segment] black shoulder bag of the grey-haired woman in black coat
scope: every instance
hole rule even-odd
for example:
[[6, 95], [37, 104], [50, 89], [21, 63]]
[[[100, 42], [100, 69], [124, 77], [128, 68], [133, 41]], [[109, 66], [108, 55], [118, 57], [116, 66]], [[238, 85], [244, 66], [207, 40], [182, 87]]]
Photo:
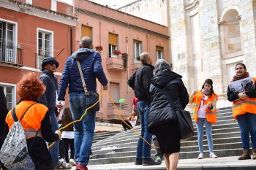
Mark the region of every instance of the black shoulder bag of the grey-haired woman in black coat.
[[178, 130], [180, 131], [181, 139], [186, 140], [186, 139], [192, 138], [195, 135], [195, 131], [194, 131], [192, 118], [190, 116], [190, 112], [173, 106], [173, 101], [168, 95], [166, 89], [163, 88], [162, 90], [164, 91], [165, 96], [167, 97], [170, 103], [170, 106], [176, 110]]

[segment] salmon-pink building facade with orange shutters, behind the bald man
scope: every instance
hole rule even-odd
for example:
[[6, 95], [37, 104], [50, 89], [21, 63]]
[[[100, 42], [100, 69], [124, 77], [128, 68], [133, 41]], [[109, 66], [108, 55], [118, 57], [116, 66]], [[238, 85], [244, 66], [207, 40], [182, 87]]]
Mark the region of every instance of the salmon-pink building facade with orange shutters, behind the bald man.
[[[118, 121], [128, 117], [132, 109], [134, 91], [127, 80], [141, 66], [140, 53], [148, 52], [153, 61], [164, 58], [170, 62], [169, 36], [166, 26], [119, 12], [91, 1], [75, 1], [75, 15], [79, 18], [76, 30], [76, 45], [80, 38], [91, 36], [95, 50], [102, 55], [102, 66], [109, 80], [108, 93], [97, 85], [102, 93], [101, 109], [97, 117], [103, 120]], [[99, 48], [102, 47], [102, 48]], [[115, 50], [127, 56], [115, 55]], [[119, 99], [124, 98], [123, 103]], [[116, 104], [114, 109], [113, 103]]]

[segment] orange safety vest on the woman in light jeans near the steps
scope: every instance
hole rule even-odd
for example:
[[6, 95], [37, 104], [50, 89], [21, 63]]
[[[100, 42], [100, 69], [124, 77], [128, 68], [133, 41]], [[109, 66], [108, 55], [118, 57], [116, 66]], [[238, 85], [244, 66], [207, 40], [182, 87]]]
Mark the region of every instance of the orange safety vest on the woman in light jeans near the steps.
[[[202, 97], [203, 97], [203, 92], [201, 90], [197, 91], [197, 93], [195, 94], [195, 97], [194, 97], [194, 114], [193, 114], [193, 117], [195, 119], [195, 123], [197, 123], [198, 110], [200, 108]], [[210, 101], [214, 101], [214, 98], [217, 98], [217, 100], [218, 100], [217, 94], [212, 94], [211, 98], [208, 97], [206, 99], [206, 101], [203, 102], [203, 105], [208, 104], [208, 102], [210, 102]], [[217, 122], [217, 109], [210, 110], [207, 107], [207, 109], [206, 109], [206, 120], [209, 123], [213, 123], [213, 124], [216, 123]]]

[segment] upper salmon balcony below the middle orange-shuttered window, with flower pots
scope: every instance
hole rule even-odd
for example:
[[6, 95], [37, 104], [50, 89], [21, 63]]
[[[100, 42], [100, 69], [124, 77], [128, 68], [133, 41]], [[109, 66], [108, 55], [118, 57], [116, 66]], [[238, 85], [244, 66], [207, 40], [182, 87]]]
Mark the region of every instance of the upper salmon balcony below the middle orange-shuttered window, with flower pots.
[[107, 63], [108, 70], [115, 70], [115, 71], [126, 70], [124, 69], [124, 60], [117, 55], [111, 55], [111, 57], [108, 57], [106, 63]]

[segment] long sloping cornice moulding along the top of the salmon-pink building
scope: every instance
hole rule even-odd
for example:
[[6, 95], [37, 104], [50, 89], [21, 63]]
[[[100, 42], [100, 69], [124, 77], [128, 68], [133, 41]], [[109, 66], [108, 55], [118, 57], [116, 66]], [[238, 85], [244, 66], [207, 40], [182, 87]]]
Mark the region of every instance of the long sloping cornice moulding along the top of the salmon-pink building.
[[166, 35], [166, 34], [160, 34], [160, 33], [156, 32], [156, 31], [151, 31], [151, 30], [148, 30], [148, 29], [146, 29], [146, 28], [142, 28], [142, 27], [140, 27], [140, 26], [135, 26], [135, 25], [130, 24], [130, 23], [125, 23], [125, 22], [123, 22], [123, 21], [121, 21], [121, 20], [116, 20], [116, 19], [114, 19], [114, 18], [109, 18], [109, 17], [107, 17], [107, 16], [105, 16], [105, 15], [100, 15], [100, 14], [97, 14], [97, 13], [94, 13], [94, 12], [91, 12], [91, 11], [88, 11], [88, 10], [86, 10], [86, 9], [81, 9], [81, 8], [76, 7], [76, 8], [75, 8], [75, 12], [81, 13], [81, 14], [83, 14], [83, 15], [88, 15], [88, 16], [91, 16], [91, 17], [93, 17], [93, 18], [98, 18], [99, 20], [107, 20], [107, 21], [110, 21], [111, 23], [117, 23], [117, 24], [119, 24], [119, 25], [121, 25], [121, 26], [126, 26], [126, 27], [128, 27], [128, 28], [137, 29], [137, 30], [146, 32], [147, 34], [154, 34], [154, 35], [156, 35], [156, 36], [164, 37], [164, 38], [166, 38], [166, 39], [169, 39], [169, 38], [170, 38], [170, 36], [168, 36], [168, 35]]

